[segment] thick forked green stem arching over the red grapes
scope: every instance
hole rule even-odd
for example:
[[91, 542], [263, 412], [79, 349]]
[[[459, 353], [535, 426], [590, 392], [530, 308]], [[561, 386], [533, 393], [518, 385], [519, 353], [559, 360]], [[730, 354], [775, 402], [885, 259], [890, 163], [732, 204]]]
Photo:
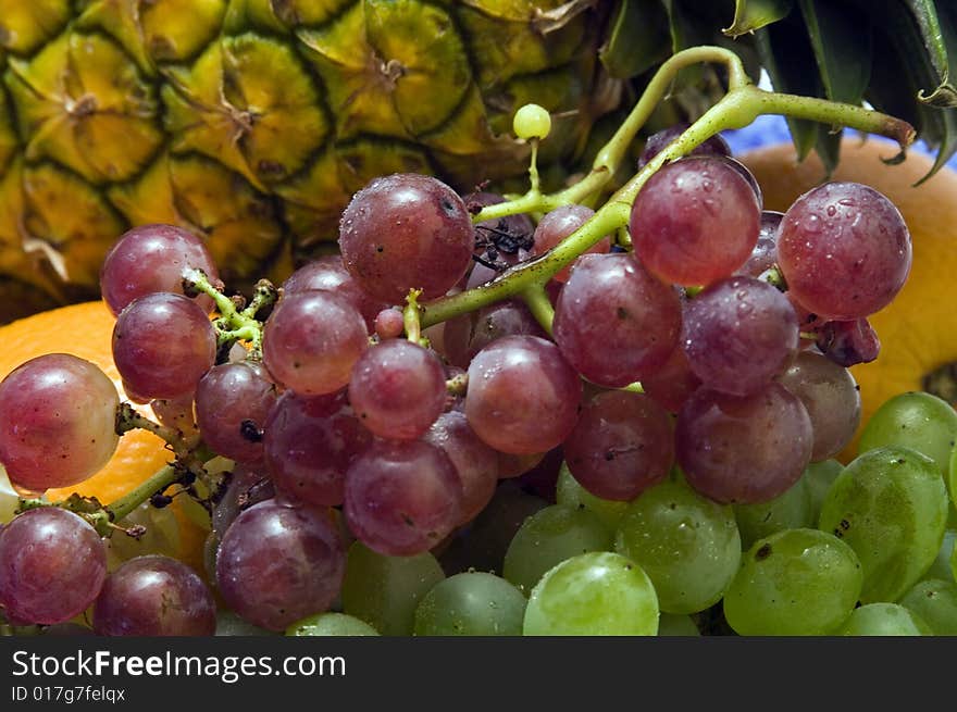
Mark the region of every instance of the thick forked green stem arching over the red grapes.
[[[473, 221], [478, 223], [519, 213], [548, 212], [594, 197], [607, 186], [625, 160], [629, 146], [655, 107], [669, 92], [678, 72], [700, 62], [725, 66], [729, 83], [724, 97], [634, 174], [585, 224], [549, 252], [510, 267], [484, 285], [423, 304], [419, 314], [422, 328], [517, 295], [529, 303], [526, 295], [534, 295], [533, 290], [544, 288], [556, 273], [606, 235], [626, 228], [635, 197], [662, 165], [687, 154], [716, 134], [743, 128], [762, 114], [782, 114], [887, 136], [900, 145], [902, 152], [915, 140], [913, 127], [903, 120], [853, 104], [766, 91], [748, 78], [744, 64], [734, 52], [721, 47], [695, 47], [674, 54], [661, 65], [631, 114], [598, 152], [591, 173], [581, 182], [560, 192], [542, 195], [537, 190], [530, 190], [513, 200], [487, 205], [473, 216]], [[533, 310], [533, 313], [543, 327], [550, 328], [550, 309]]]

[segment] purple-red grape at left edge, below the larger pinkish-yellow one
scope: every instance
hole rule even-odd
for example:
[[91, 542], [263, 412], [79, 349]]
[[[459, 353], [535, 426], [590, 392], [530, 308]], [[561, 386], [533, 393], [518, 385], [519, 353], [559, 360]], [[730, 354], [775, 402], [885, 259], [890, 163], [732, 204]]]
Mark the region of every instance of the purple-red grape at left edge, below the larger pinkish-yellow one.
[[55, 507], [17, 515], [0, 529], [0, 605], [23, 623], [63, 623], [94, 602], [107, 551], [83, 519]]

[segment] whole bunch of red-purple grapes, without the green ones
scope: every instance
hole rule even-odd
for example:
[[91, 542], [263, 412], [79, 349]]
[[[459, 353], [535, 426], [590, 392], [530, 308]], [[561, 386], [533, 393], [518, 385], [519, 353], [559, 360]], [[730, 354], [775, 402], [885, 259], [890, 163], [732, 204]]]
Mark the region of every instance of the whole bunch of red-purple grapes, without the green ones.
[[[671, 137], [649, 141], [643, 162]], [[473, 224], [502, 198], [422, 175], [375, 179], [341, 216], [340, 255], [301, 267], [252, 314], [261, 351], [228, 348], [211, 320], [214, 302], [189, 275], [222, 286], [197, 237], [127, 233], [101, 275], [114, 360], [130, 400], [184, 437], [195, 421], [233, 463], [207, 498], [210, 576], [229, 609], [271, 630], [331, 610], [348, 597], [349, 542], [410, 561], [442, 551], [501, 479], [549, 453], [612, 504], [675, 466], [698, 495], [751, 504], [840, 452], [860, 412], [846, 366], [877, 355], [867, 316], [908, 275], [906, 226], [883, 196], [847, 183], [762, 212], [728, 153], [710, 141], [656, 172], [630, 240], [596, 240], [545, 285], [550, 324], [507, 299], [420, 335], [405, 307], [412, 290], [427, 305], [514, 278], [587, 224], [584, 205], [537, 226], [529, 215]], [[117, 405], [110, 380], [76, 358], [22, 365], [0, 385], [11, 482], [42, 492], [95, 473], [115, 447]], [[60, 623], [90, 604], [107, 635], [214, 627], [208, 586], [167, 557], [107, 576], [88, 519], [39, 507], [3, 528], [8, 620]]]

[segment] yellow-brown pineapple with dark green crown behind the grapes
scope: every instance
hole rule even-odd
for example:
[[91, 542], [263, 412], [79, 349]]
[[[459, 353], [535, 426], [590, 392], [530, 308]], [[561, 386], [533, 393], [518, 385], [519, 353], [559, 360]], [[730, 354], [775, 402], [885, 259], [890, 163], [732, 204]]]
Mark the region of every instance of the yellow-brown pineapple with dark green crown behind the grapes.
[[[95, 297], [105, 251], [148, 222], [203, 235], [231, 286], [283, 278], [332, 249], [373, 176], [470, 190], [521, 174], [511, 117], [530, 101], [555, 120], [542, 160], [567, 172], [596, 122], [695, 43], [735, 48], [785, 88], [868, 98], [953, 151], [949, 36], [933, 32], [953, 17], [884, 0], [852, 33], [855, 2], [0, 0], [0, 323]], [[795, 28], [804, 65], [787, 67]], [[844, 55], [815, 41], [842, 29], [869, 39]], [[887, 47], [908, 82], [888, 76]], [[861, 58], [869, 71], [844, 80], [835, 66]], [[674, 116], [720, 89], [707, 70], [681, 84]], [[794, 129], [803, 153], [833, 153], [826, 130]]]

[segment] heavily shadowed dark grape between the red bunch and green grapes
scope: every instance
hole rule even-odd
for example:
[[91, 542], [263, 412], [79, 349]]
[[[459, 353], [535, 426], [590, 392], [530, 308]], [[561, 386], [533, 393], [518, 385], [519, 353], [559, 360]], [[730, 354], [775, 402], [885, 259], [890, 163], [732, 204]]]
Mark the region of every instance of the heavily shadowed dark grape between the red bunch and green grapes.
[[505, 552], [522, 523], [548, 502], [523, 491], [512, 479], [498, 484], [484, 510], [438, 554], [447, 575], [464, 571], [501, 573]]

